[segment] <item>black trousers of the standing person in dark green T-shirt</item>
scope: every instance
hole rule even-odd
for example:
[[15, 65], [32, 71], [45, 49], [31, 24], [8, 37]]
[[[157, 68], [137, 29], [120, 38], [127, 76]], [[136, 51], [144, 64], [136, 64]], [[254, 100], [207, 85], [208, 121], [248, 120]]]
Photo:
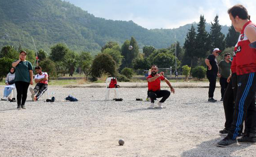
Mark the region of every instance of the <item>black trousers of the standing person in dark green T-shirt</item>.
[[17, 104], [19, 106], [25, 105], [25, 102], [27, 100], [27, 89], [29, 87], [29, 83], [23, 81], [16, 81], [15, 87], [17, 90]]

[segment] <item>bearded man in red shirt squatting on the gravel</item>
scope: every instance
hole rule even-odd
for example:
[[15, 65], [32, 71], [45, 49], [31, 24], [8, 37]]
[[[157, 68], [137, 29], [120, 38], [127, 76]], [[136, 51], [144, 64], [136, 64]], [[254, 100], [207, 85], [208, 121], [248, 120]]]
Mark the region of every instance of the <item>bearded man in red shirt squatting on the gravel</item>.
[[174, 88], [170, 84], [169, 80], [167, 80], [164, 77], [164, 72], [160, 72], [157, 74], [158, 68], [156, 65], [151, 66], [151, 75], [147, 77], [148, 80], [148, 97], [151, 99], [151, 105], [149, 108], [154, 108], [154, 100], [156, 98], [161, 98], [163, 97], [159, 102], [158, 102], [158, 107], [163, 108], [162, 103], [165, 102], [165, 100], [170, 96], [170, 91], [168, 90], [161, 90], [160, 88], [160, 83], [161, 81], [165, 81], [166, 84], [170, 87], [170, 90], [172, 93], [175, 92]]

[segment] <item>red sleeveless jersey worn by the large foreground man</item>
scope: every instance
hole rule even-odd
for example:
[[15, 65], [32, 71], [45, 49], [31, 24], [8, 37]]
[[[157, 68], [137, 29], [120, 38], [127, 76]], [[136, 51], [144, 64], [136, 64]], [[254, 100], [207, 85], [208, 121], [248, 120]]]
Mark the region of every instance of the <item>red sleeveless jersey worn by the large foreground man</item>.
[[254, 26], [256, 29], [256, 25], [251, 21], [248, 21], [241, 31], [241, 34], [238, 38], [238, 43], [235, 46], [234, 53], [236, 54], [236, 74], [243, 75], [247, 73], [256, 72], [256, 49], [252, 49], [249, 47], [251, 43], [247, 36], [244, 34], [245, 27], [248, 25]]

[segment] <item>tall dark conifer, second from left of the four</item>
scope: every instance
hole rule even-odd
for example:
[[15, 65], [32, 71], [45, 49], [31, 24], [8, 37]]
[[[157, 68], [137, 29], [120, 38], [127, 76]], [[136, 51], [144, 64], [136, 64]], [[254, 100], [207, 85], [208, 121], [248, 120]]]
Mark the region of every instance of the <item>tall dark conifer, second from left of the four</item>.
[[[195, 57], [204, 58], [207, 55], [207, 51], [210, 49], [209, 47], [209, 38], [208, 33], [205, 30], [205, 18], [203, 15], [200, 15], [199, 24], [197, 24], [197, 35], [196, 35], [196, 53]], [[197, 63], [196, 65], [197, 66]]]

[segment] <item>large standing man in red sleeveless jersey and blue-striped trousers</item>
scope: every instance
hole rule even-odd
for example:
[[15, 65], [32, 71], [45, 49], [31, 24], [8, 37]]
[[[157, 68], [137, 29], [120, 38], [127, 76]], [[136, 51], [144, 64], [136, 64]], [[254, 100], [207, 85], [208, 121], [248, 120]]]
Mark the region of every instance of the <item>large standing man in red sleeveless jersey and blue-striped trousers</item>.
[[[247, 9], [243, 5], [234, 5], [228, 13], [232, 25], [240, 32], [234, 51], [238, 88], [231, 128], [227, 137], [217, 143], [221, 147], [236, 146], [238, 142], [256, 144], [256, 49], [249, 46], [256, 41], [256, 25], [249, 20]], [[236, 140], [243, 120], [245, 135]]]

